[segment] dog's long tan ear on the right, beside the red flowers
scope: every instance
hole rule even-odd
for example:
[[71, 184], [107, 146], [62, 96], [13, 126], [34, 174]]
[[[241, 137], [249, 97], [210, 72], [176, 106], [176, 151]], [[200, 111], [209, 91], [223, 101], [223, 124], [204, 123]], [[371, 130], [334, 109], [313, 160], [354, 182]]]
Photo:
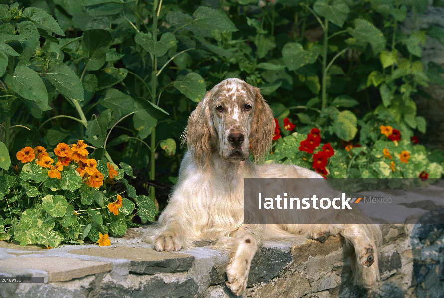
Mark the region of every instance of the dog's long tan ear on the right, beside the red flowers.
[[273, 112], [260, 94], [260, 89], [253, 87], [253, 91], [255, 109], [251, 125], [251, 151], [254, 159], [260, 161], [271, 147], [276, 124]]

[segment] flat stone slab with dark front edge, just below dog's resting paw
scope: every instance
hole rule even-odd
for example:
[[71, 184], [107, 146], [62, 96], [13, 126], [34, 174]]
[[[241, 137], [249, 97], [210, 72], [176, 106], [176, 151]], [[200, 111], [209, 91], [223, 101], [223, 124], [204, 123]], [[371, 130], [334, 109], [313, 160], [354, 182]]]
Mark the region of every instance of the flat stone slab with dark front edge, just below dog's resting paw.
[[194, 257], [184, 253], [159, 252], [141, 247], [84, 248], [70, 251], [81, 254], [111, 259], [131, 261], [129, 272], [138, 274], [173, 273], [191, 268]]

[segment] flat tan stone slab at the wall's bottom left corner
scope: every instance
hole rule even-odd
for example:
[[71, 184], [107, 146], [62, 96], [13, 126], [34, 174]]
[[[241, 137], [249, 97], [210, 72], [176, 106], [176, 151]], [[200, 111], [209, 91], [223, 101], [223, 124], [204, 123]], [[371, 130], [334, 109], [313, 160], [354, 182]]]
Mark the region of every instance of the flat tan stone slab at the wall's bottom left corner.
[[7, 269], [34, 269], [46, 271], [48, 282], [63, 282], [81, 278], [90, 274], [110, 271], [112, 263], [84, 261], [63, 257], [18, 257], [0, 260], [0, 272]]

